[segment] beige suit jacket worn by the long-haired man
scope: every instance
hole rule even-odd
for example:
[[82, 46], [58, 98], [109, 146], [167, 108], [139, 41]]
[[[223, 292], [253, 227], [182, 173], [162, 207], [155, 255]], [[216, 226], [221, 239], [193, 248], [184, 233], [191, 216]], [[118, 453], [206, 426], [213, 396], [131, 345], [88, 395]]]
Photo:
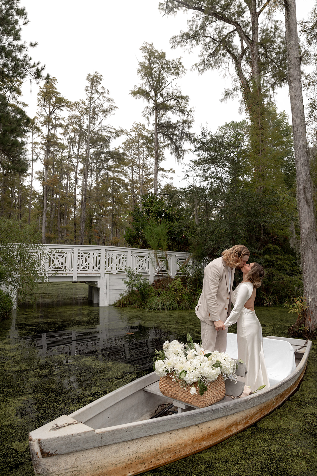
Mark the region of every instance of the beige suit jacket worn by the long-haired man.
[[229, 288], [228, 267], [223, 258], [216, 258], [205, 268], [202, 294], [195, 307], [196, 316], [211, 324], [221, 319], [224, 322], [231, 313], [231, 293], [235, 269], [231, 269]]

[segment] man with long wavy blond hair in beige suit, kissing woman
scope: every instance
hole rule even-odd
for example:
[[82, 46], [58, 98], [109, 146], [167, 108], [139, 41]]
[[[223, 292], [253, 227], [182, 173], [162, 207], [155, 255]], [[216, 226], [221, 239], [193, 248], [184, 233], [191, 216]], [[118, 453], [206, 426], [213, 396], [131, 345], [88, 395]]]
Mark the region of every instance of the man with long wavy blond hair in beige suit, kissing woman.
[[231, 313], [234, 271], [250, 258], [250, 251], [243, 245], [225, 249], [221, 254], [222, 258], [212, 260], [205, 268], [202, 294], [195, 307], [201, 321], [202, 347], [210, 352], [226, 351], [227, 330], [223, 323]]

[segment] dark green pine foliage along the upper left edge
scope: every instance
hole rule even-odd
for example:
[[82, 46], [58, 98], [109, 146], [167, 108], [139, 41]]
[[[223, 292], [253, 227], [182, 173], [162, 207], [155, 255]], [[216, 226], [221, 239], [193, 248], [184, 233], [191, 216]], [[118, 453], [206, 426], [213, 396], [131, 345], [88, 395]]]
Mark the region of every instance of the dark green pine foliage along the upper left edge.
[[26, 78], [40, 79], [44, 66], [29, 56], [36, 43], [21, 40], [29, 20], [19, 0], [2, 0], [0, 19], [0, 162], [8, 172], [23, 172], [28, 167], [25, 144], [30, 119], [19, 99], [21, 85]]

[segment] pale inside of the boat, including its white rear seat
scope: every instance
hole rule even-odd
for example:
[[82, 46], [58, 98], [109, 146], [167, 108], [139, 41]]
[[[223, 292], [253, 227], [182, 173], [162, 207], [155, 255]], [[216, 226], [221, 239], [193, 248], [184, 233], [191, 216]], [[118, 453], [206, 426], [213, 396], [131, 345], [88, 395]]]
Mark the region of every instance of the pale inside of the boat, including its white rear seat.
[[[268, 368], [270, 385], [278, 385], [296, 369], [305, 353], [305, 340], [268, 336], [263, 338], [263, 349]], [[302, 347], [302, 348], [301, 348]], [[227, 352], [238, 358], [237, 335], [228, 334]], [[226, 396], [223, 403], [244, 395], [245, 365], [237, 370], [238, 382], [226, 380]], [[263, 391], [266, 391], [264, 388]], [[219, 403], [219, 402], [218, 402]], [[183, 413], [196, 409], [178, 400], [165, 397], [159, 389], [159, 377], [153, 372], [124, 387], [118, 388], [86, 407], [69, 415], [75, 420], [94, 428], [106, 428], [134, 423], [153, 417], [166, 415], [166, 408], [174, 413]], [[165, 410], [165, 412], [164, 412]]]

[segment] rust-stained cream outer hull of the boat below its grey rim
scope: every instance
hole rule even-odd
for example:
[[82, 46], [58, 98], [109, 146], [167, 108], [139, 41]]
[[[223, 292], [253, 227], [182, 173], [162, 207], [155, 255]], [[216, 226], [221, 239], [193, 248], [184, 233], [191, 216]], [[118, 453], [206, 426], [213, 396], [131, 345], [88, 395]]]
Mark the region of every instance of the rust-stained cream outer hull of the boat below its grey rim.
[[[136, 475], [202, 451], [239, 433], [279, 407], [297, 389], [306, 369], [305, 360], [305, 364], [302, 362], [297, 372], [282, 385], [262, 395], [243, 398], [239, 402], [235, 400], [232, 402], [235, 412], [213, 416], [208, 421], [192, 425], [189, 419], [188, 426], [66, 454], [45, 455], [39, 446], [41, 442], [31, 439], [35, 473], [49, 476]], [[206, 420], [203, 409], [190, 413], [195, 413], [196, 417], [201, 413], [202, 419]]]

